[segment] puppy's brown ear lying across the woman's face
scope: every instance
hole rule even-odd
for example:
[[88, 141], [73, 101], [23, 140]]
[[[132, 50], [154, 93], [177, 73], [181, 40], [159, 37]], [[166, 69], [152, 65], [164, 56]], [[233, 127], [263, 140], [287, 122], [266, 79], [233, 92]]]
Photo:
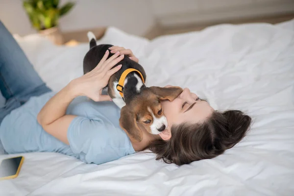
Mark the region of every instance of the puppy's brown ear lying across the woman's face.
[[155, 95], [159, 96], [159, 99], [161, 100], [169, 99], [170, 101], [172, 101], [183, 92], [183, 89], [178, 86], [173, 86], [168, 88], [151, 86], [149, 88]]

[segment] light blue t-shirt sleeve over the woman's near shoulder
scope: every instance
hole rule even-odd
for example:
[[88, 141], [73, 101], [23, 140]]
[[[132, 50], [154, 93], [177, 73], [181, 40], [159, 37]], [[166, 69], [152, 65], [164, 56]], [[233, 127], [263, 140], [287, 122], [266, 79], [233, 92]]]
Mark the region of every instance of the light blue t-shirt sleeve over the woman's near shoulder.
[[102, 164], [134, 153], [126, 133], [108, 120], [76, 117], [68, 130], [74, 153], [83, 152], [86, 163]]

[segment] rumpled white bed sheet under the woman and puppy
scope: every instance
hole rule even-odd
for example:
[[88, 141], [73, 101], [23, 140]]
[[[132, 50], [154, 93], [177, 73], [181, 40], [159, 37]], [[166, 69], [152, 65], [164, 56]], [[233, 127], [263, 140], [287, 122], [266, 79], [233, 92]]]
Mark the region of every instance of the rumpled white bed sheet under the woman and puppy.
[[[16, 38], [53, 90], [82, 74], [88, 44], [56, 47], [36, 35]], [[145, 152], [102, 165], [24, 153], [20, 175], [0, 181], [1, 196], [294, 195], [294, 20], [217, 25], [152, 41], [110, 27], [98, 43], [132, 49], [147, 85], [189, 87], [215, 109], [247, 112], [250, 132], [223, 155], [181, 167]]]

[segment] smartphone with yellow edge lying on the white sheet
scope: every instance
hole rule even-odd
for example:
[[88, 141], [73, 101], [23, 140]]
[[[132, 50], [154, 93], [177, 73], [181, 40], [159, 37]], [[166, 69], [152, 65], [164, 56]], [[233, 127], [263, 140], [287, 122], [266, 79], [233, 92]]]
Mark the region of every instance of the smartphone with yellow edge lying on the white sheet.
[[25, 157], [17, 156], [3, 159], [0, 164], [0, 180], [16, 178], [24, 163]]

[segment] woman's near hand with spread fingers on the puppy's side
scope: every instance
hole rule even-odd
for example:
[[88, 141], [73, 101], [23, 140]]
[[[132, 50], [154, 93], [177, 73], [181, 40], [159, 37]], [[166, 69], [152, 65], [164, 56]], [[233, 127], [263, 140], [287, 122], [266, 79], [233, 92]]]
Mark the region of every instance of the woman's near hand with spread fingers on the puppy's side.
[[124, 55], [116, 52], [107, 59], [108, 55], [109, 51], [107, 50], [96, 68], [71, 82], [70, 85], [78, 96], [86, 96], [94, 101], [111, 100], [109, 95], [101, 95], [102, 89], [108, 84], [110, 76], [121, 69], [122, 65], [111, 68], [123, 60]]

